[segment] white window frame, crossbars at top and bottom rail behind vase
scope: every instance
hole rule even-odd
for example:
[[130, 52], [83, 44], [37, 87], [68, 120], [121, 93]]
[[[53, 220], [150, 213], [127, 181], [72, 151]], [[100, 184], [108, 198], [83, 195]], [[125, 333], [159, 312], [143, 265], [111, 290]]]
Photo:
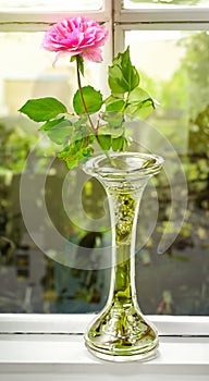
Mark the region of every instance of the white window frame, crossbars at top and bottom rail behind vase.
[[[135, 29], [160, 29], [180, 26], [185, 29], [209, 29], [209, 9], [184, 10], [121, 10], [121, 0], [107, 0], [107, 7], [96, 12], [83, 12], [97, 21], [106, 21], [114, 36], [109, 45], [108, 60], [124, 47], [124, 32]], [[113, 4], [113, 8], [112, 8]], [[81, 14], [82, 12], [78, 12]], [[66, 15], [77, 15], [75, 12], [64, 11], [28, 11], [28, 10], [0, 10], [1, 32], [40, 32], [46, 30], [51, 24], [64, 19]], [[113, 16], [112, 16], [113, 15]], [[188, 24], [188, 22], [190, 22]], [[183, 24], [185, 23], [185, 24]], [[112, 27], [114, 26], [114, 29]], [[106, 63], [106, 62], [104, 62]], [[84, 333], [91, 315], [20, 315], [1, 314], [0, 332], [4, 333]], [[186, 335], [209, 337], [209, 317], [148, 317], [157, 325], [160, 335]]]

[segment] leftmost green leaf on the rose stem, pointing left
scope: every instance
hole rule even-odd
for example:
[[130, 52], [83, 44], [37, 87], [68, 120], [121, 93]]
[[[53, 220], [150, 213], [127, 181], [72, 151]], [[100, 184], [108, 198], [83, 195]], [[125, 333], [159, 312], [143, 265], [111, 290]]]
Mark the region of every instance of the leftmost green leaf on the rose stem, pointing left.
[[19, 111], [35, 122], [46, 122], [61, 113], [67, 112], [63, 103], [50, 97], [29, 99]]

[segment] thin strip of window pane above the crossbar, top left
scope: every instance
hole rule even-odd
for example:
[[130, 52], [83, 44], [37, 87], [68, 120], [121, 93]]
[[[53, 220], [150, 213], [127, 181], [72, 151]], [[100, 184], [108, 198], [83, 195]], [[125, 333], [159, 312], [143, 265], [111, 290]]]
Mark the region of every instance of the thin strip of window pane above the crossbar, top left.
[[41, 8], [47, 10], [69, 10], [69, 11], [90, 11], [102, 8], [102, 0], [0, 0], [0, 9], [2, 8]]

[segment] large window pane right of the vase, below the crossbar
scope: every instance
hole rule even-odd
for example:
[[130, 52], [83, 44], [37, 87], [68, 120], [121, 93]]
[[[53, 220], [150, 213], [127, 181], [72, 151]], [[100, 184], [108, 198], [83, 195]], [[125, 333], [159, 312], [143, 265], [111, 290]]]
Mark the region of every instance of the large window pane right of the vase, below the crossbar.
[[[209, 315], [209, 33], [126, 32], [125, 44], [142, 73], [142, 86], [160, 102], [149, 119], [151, 131], [162, 133], [162, 142], [167, 138], [172, 144], [188, 186], [183, 226], [167, 251], [157, 255], [171, 211], [168, 180], [163, 173], [157, 179], [159, 222], [138, 255], [142, 308], [149, 314]], [[164, 155], [169, 156], [165, 149]], [[176, 174], [172, 192], [181, 205], [176, 171], [171, 163], [169, 173]], [[174, 230], [171, 225], [168, 234]]]

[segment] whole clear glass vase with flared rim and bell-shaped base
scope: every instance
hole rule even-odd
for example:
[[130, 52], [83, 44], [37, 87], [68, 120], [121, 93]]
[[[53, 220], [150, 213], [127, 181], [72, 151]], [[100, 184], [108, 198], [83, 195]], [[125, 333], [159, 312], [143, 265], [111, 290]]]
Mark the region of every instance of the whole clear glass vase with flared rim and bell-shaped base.
[[85, 334], [88, 349], [102, 359], [145, 360], [156, 355], [157, 331], [143, 316], [136, 297], [135, 238], [143, 192], [162, 164], [163, 159], [158, 156], [120, 152], [109, 159], [104, 155], [95, 156], [84, 167], [86, 173], [104, 186], [111, 218], [109, 297]]

